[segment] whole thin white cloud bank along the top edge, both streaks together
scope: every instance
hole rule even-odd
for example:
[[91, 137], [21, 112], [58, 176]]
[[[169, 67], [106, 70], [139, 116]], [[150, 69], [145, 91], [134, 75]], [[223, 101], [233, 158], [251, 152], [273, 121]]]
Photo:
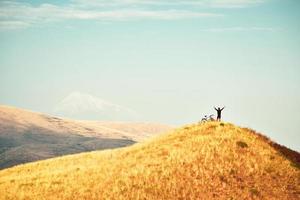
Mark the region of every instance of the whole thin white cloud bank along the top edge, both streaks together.
[[[264, 0], [71, 0], [66, 5], [0, 1], [0, 29], [27, 28], [68, 19], [77, 20], [179, 20], [217, 17], [220, 13], [191, 8], [242, 8]], [[153, 6], [156, 6], [154, 9]], [[181, 9], [180, 6], [185, 6]]]

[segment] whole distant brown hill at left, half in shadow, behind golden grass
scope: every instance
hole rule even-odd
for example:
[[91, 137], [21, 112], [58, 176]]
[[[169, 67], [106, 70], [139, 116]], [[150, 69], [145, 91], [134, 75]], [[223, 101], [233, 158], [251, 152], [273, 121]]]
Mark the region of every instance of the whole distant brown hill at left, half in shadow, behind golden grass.
[[131, 145], [170, 127], [155, 123], [76, 121], [0, 106], [0, 169]]

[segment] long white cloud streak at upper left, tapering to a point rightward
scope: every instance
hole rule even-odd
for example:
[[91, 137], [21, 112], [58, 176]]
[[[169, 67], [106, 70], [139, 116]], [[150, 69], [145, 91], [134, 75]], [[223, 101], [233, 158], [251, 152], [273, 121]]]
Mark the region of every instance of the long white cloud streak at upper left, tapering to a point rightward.
[[[33, 6], [28, 3], [3, 1], [0, 2], [0, 28], [15, 29], [25, 28], [33, 24], [62, 21], [68, 19], [78, 20], [178, 20], [187, 18], [200, 17], [217, 17], [221, 14], [210, 12], [199, 12], [181, 9], [146, 9], [140, 7], [119, 7], [99, 9], [91, 6], [93, 3], [105, 5], [108, 1], [90, 1], [85, 6], [80, 6], [86, 1], [75, 1], [69, 5], [58, 6], [53, 4], [41, 4]], [[127, 3], [134, 4], [135, 0], [131, 1], [112, 1], [111, 3]]]

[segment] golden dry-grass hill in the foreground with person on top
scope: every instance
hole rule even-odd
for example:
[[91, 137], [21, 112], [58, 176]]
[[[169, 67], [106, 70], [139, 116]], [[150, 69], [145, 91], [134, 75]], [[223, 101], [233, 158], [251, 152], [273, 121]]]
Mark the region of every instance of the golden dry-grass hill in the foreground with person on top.
[[209, 122], [123, 149], [2, 170], [0, 199], [296, 200], [298, 161], [299, 153], [254, 131]]

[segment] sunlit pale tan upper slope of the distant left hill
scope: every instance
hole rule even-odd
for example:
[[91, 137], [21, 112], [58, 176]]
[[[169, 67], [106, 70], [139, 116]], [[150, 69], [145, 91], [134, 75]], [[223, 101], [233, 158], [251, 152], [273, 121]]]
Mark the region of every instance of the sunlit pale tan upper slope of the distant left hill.
[[43, 131], [59, 134], [76, 133], [89, 137], [127, 138], [141, 141], [170, 128], [158, 123], [70, 120], [0, 105], [0, 134], [5, 131], [22, 133], [38, 129], [41, 133]]

